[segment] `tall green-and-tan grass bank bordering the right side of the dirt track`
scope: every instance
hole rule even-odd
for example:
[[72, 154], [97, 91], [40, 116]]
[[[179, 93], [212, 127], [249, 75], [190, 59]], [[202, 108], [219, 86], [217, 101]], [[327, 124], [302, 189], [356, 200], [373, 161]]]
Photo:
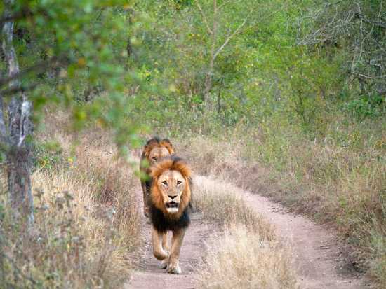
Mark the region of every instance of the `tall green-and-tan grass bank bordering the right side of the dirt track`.
[[[370, 269], [385, 282], [386, 165], [384, 124], [368, 131], [363, 124], [310, 140], [279, 127], [232, 129], [222, 136], [192, 136], [181, 142], [194, 168], [251, 192], [272, 197], [298, 213], [337, 227], [350, 246], [347, 262], [359, 272]], [[381, 128], [382, 127], [382, 128]], [[338, 138], [355, 141], [352, 147]], [[355, 138], [352, 139], [352, 138]], [[278, 153], [279, 152], [279, 153]]]

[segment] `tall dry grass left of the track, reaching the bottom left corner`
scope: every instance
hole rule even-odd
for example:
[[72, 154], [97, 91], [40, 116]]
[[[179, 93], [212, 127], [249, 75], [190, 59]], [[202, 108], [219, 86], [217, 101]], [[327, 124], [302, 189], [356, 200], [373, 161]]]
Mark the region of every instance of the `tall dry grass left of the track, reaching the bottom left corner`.
[[[121, 285], [131, 272], [127, 255], [138, 245], [134, 202], [100, 203], [95, 199], [99, 184], [76, 169], [37, 171], [32, 182], [36, 192], [32, 237], [18, 236], [15, 224], [3, 223], [8, 239], [4, 251], [13, 262], [4, 283], [47, 288]], [[121, 183], [118, 200], [131, 199], [134, 193], [124, 187]]]

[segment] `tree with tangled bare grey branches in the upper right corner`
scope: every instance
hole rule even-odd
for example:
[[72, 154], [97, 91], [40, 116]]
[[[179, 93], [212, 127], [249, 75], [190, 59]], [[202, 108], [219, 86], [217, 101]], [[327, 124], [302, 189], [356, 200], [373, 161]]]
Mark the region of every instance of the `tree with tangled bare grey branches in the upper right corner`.
[[386, 96], [386, 16], [382, 0], [316, 1], [302, 19], [300, 43], [345, 52], [344, 68], [350, 85], [359, 83], [361, 95]]

